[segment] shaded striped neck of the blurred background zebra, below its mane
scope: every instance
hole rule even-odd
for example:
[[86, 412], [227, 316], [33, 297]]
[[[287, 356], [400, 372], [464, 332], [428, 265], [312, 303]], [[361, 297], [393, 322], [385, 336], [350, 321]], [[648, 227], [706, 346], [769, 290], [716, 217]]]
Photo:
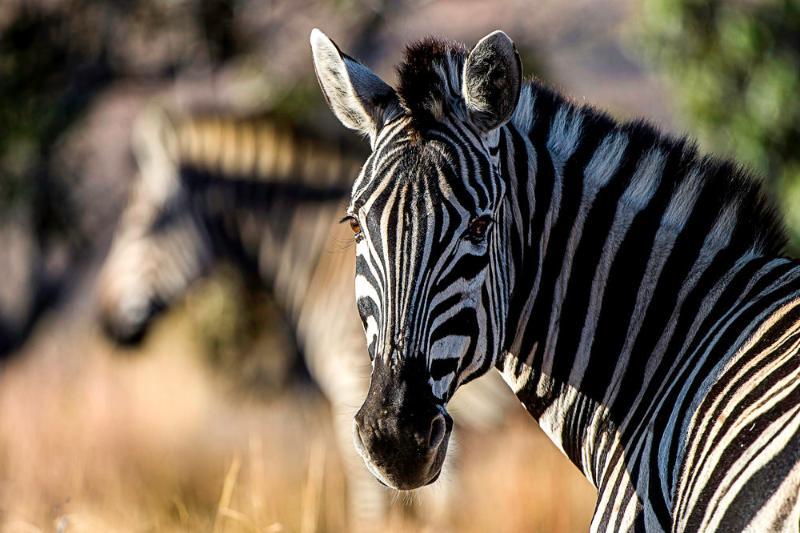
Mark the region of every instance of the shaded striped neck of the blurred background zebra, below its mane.
[[273, 292], [296, 320], [320, 257], [344, 248], [331, 228], [344, 212], [346, 191], [220, 179], [191, 168], [182, 174], [214, 255]]

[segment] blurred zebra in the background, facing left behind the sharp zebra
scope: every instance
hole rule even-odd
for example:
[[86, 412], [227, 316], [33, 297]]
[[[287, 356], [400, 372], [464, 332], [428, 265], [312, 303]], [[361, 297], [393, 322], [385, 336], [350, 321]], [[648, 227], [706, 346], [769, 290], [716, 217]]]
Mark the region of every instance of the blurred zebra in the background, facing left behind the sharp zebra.
[[[350, 230], [337, 223], [366, 151], [272, 116], [179, 114], [158, 102], [140, 114], [132, 143], [139, 174], [98, 279], [103, 329], [120, 344], [138, 343], [220, 260], [255, 276], [285, 311], [331, 403], [351, 525], [379, 530], [391, 493], [350, 444], [369, 364], [350, 297]], [[466, 395], [460, 421], [479, 430], [501, 423], [510, 401], [503, 389]], [[421, 503], [443, 512], [447, 497], [439, 491]]]

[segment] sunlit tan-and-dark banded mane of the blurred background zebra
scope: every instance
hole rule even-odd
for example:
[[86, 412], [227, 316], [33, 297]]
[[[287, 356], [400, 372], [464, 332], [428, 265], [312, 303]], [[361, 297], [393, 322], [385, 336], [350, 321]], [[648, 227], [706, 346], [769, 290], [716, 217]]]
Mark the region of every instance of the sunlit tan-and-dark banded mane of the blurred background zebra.
[[142, 115], [134, 132], [143, 139], [134, 143], [140, 166], [165, 153], [174, 174], [190, 182], [258, 182], [344, 194], [368, 155], [355, 139], [323, 135], [271, 114], [178, 114], [153, 106]]

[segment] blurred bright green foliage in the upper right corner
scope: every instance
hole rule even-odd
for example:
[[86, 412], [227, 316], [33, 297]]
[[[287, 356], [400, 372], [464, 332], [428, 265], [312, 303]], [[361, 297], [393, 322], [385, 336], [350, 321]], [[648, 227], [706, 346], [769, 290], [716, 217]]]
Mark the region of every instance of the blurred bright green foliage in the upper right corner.
[[[645, 0], [637, 48], [701, 144], [767, 178], [800, 252], [800, 2]], [[638, 46], [641, 45], [641, 46]]]

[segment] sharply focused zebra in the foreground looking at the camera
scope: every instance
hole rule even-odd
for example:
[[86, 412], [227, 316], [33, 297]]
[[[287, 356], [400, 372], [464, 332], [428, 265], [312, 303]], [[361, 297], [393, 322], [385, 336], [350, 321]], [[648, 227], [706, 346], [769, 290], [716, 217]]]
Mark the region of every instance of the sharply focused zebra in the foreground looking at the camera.
[[502, 31], [408, 45], [397, 89], [310, 40], [372, 147], [343, 219], [370, 471], [434, 482], [449, 399], [495, 367], [597, 488], [592, 531], [797, 531], [800, 264], [757, 182], [524, 80]]

